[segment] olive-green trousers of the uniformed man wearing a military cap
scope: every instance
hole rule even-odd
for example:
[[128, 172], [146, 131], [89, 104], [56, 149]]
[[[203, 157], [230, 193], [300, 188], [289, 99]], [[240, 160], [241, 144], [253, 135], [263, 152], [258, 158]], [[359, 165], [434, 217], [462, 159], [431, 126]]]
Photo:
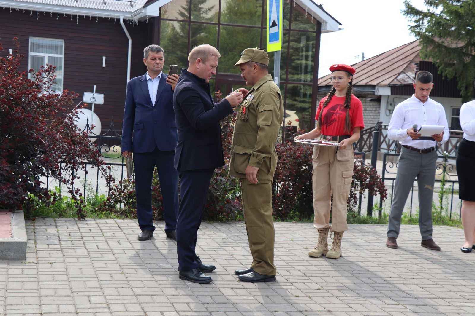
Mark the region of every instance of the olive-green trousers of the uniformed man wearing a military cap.
[[272, 181], [259, 180], [256, 185], [247, 181], [246, 178], [239, 180], [247, 238], [253, 259], [251, 267], [260, 274], [276, 275]]

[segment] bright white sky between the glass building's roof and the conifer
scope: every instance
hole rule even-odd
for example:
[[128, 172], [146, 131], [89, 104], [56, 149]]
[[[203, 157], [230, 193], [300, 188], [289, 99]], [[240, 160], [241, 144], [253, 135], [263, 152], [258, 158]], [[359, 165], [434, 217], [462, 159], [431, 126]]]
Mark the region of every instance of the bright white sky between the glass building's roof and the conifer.
[[[416, 38], [410, 34], [408, 19], [401, 13], [404, 0], [314, 0], [342, 23], [338, 32], [322, 34], [318, 77], [328, 74], [333, 64], [352, 65], [407, 44]], [[411, 0], [424, 9], [424, 0]]]

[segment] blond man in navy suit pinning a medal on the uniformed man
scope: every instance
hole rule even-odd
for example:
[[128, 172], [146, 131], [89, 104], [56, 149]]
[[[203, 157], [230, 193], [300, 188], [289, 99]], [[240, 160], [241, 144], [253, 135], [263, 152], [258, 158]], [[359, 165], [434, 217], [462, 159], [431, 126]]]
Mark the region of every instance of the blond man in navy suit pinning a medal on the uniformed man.
[[213, 102], [209, 79], [216, 74], [219, 57], [213, 46], [203, 44], [193, 48], [188, 56], [188, 69], [181, 70], [173, 94], [178, 128], [175, 168], [180, 175], [181, 195], [176, 231], [178, 270], [180, 279], [195, 283], [211, 282], [202, 272], [216, 269], [201, 262], [195, 247], [209, 182], [214, 169], [224, 165], [219, 120], [231, 114], [243, 100], [243, 94], [236, 92]]

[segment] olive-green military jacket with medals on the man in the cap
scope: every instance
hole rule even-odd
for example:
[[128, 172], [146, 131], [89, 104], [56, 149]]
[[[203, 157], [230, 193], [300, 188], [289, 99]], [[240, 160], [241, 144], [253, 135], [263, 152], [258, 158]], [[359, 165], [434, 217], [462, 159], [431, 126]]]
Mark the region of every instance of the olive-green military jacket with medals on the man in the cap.
[[272, 180], [277, 135], [284, 119], [284, 102], [272, 75], [260, 78], [237, 109], [229, 175], [245, 178], [250, 165], [259, 168], [257, 180]]

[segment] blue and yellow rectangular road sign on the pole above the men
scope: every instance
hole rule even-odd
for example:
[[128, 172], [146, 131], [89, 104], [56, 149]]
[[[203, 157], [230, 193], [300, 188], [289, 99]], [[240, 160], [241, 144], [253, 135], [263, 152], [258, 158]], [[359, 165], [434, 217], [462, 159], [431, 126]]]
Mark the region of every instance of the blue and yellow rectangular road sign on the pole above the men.
[[267, 52], [282, 49], [284, 0], [267, 0]]

